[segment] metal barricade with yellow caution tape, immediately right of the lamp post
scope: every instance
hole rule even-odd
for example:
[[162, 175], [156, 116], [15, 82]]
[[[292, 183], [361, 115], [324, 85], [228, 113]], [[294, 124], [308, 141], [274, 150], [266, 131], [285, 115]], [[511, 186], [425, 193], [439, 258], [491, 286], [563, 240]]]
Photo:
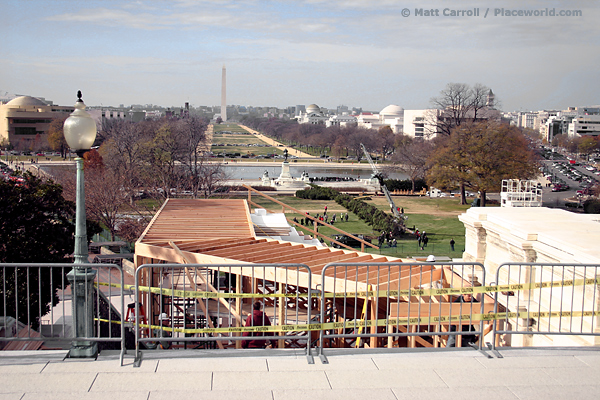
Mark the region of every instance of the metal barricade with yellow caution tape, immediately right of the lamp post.
[[[319, 319], [311, 286], [311, 271], [303, 264], [141, 265], [135, 273], [137, 301], [129, 305], [135, 310], [134, 365], [141, 361], [140, 345], [224, 349], [267, 342], [305, 347], [310, 362], [309, 327]], [[257, 301], [262, 313], [253, 311]]]

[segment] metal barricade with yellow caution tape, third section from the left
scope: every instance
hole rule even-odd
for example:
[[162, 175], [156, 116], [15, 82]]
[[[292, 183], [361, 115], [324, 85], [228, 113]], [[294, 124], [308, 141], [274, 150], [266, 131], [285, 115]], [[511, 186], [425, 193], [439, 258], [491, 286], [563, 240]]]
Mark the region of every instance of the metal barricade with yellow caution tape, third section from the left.
[[494, 303], [473, 295], [480, 285], [485, 269], [479, 263], [328, 264], [321, 272], [319, 355], [326, 362], [325, 347], [451, 347], [455, 341], [481, 350], [478, 339], [491, 331], [481, 316]]

